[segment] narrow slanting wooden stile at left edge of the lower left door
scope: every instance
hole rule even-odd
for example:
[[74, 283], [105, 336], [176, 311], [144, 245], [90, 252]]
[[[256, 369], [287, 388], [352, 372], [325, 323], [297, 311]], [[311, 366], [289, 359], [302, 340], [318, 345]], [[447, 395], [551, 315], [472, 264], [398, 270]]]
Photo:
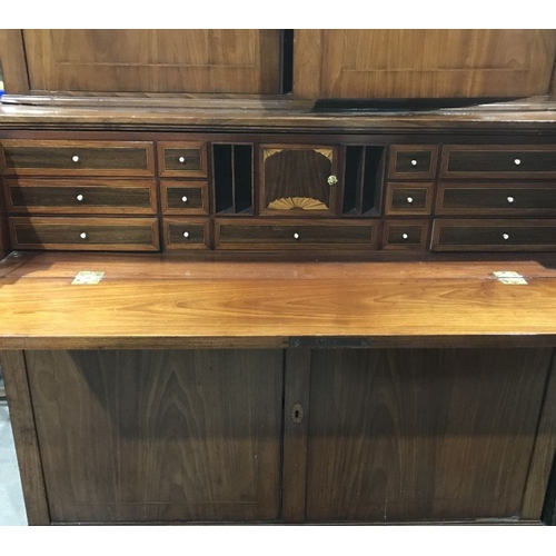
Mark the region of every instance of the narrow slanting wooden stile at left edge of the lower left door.
[[0, 353], [29, 525], [49, 525], [44, 478], [22, 351]]

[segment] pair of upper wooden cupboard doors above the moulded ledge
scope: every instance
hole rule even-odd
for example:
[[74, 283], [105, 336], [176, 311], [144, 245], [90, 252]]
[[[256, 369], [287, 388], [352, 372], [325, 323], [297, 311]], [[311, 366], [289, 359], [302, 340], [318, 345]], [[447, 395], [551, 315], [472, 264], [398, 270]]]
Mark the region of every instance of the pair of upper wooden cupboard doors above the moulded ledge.
[[548, 95], [549, 29], [7, 29], [10, 95], [298, 99]]

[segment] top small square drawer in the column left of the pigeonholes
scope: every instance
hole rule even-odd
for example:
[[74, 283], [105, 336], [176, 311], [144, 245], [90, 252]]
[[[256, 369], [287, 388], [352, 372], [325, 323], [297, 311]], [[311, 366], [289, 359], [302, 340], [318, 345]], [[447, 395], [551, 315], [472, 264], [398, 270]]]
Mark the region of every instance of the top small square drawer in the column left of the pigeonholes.
[[206, 178], [207, 146], [203, 142], [159, 142], [158, 166], [162, 178]]

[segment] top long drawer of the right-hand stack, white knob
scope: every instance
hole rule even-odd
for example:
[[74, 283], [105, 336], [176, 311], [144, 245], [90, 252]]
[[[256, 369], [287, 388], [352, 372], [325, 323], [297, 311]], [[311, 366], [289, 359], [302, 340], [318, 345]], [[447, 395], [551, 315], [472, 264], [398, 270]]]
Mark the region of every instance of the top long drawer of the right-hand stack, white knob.
[[443, 148], [440, 177], [556, 177], [554, 146], [453, 146]]

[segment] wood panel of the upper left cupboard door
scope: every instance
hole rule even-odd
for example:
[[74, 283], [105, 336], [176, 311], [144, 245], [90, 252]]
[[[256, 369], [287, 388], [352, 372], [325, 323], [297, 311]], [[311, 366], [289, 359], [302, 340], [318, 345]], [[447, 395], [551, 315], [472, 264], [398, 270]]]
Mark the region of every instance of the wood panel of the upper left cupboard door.
[[23, 31], [30, 89], [87, 92], [279, 92], [279, 30]]

